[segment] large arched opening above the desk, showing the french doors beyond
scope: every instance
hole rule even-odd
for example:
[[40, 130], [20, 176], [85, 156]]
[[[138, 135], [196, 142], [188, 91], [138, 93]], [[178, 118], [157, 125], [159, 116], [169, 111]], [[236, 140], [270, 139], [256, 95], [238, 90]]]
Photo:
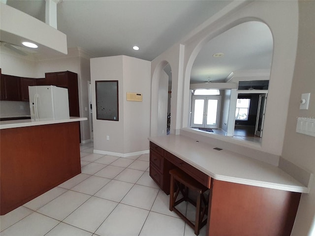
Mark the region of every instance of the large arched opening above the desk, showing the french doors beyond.
[[[236, 25], [199, 45], [190, 73], [188, 127], [260, 142], [272, 53], [271, 31], [258, 21]], [[198, 89], [219, 89], [220, 94], [195, 95]]]

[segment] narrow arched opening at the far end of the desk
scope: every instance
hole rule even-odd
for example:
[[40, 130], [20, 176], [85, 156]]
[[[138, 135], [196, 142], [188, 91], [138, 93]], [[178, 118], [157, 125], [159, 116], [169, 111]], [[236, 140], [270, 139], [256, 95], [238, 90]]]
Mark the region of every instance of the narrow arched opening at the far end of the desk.
[[164, 136], [170, 133], [171, 88], [171, 66], [167, 61], [162, 61], [152, 77], [151, 136]]

